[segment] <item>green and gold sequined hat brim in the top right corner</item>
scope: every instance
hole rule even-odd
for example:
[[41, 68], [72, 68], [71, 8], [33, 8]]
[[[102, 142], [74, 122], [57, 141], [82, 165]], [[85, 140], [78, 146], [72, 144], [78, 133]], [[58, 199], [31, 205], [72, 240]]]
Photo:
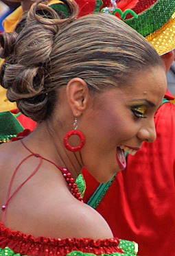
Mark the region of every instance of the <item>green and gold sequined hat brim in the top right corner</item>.
[[148, 8], [145, 4], [148, 0], [143, 2], [145, 9], [139, 10], [138, 19], [124, 21], [144, 36], [159, 55], [165, 54], [175, 48], [175, 0], [155, 1], [152, 5], [149, 3]]

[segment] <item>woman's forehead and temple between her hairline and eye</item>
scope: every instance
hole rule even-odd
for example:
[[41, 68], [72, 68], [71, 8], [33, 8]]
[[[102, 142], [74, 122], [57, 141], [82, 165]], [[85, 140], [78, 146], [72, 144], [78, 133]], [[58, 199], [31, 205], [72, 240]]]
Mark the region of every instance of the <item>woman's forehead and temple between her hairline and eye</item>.
[[116, 89], [107, 89], [97, 102], [105, 108], [111, 104], [128, 106], [132, 102], [152, 102], [152, 106], [159, 108], [166, 89], [167, 80], [163, 67], [153, 67], [135, 72], [124, 86], [121, 84]]

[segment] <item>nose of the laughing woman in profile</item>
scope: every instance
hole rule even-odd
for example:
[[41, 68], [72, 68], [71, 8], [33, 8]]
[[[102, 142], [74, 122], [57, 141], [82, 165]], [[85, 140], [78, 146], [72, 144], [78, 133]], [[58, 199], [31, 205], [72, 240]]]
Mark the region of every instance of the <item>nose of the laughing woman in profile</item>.
[[137, 137], [141, 139], [141, 141], [153, 142], [156, 139], [154, 120], [147, 120], [146, 124], [144, 124], [137, 133]]

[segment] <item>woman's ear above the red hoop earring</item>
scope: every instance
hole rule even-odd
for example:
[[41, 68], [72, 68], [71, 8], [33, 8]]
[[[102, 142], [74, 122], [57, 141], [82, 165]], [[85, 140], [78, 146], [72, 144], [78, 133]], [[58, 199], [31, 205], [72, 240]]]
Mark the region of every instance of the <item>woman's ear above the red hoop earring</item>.
[[89, 89], [81, 78], [73, 78], [67, 84], [67, 100], [73, 115], [80, 115], [86, 109], [89, 100]]

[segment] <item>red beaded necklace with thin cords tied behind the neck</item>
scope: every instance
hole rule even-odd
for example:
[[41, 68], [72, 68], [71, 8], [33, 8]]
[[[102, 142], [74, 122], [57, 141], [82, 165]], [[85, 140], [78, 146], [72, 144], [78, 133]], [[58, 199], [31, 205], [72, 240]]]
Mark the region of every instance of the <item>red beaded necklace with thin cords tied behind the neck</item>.
[[[23, 137], [18, 137], [18, 139], [16, 140], [21, 140], [23, 139]], [[5, 211], [6, 211], [6, 208], [7, 208], [7, 205], [8, 205], [8, 202], [10, 201], [10, 199], [14, 196], [14, 194], [16, 194], [17, 191], [19, 191], [19, 189], [21, 189], [21, 187], [30, 179], [32, 178], [32, 176], [34, 176], [34, 174], [36, 174], [36, 172], [38, 171], [39, 167], [40, 167], [40, 164], [42, 162], [42, 160], [45, 160], [49, 163], [52, 163], [53, 165], [55, 165], [63, 174], [63, 176], [65, 177], [66, 181], [67, 181], [67, 184], [70, 188], [70, 191], [71, 191], [71, 194], [77, 198], [80, 202], [83, 202], [82, 200], [82, 196], [80, 194], [80, 192], [78, 191], [78, 187], [77, 187], [77, 184], [75, 183], [75, 180], [74, 178], [72, 177], [71, 175], [71, 172], [69, 172], [67, 170], [67, 168], [62, 168], [60, 167], [59, 165], [56, 165], [56, 163], [52, 162], [51, 160], [49, 159], [45, 159], [43, 156], [40, 156], [39, 154], [36, 154], [34, 152], [32, 152], [29, 148], [27, 148], [25, 146], [25, 144], [23, 143], [23, 141], [21, 140], [21, 143], [23, 144], [23, 146], [31, 153], [30, 155], [26, 156], [25, 159], [23, 159], [21, 161], [21, 163], [19, 163], [19, 165], [16, 167], [16, 169], [14, 170], [14, 174], [12, 175], [12, 178], [11, 178], [11, 181], [10, 181], [10, 185], [9, 185], [9, 188], [8, 188], [8, 195], [7, 195], [7, 199], [6, 199], [6, 202], [5, 202], [5, 205], [2, 206], [1, 210], [4, 211], [3, 213], [3, 218], [1, 220], [1, 222], [4, 221], [5, 219]], [[38, 166], [36, 167], [36, 169], [34, 170], [34, 172], [32, 172], [32, 174], [21, 184], [19, 185], [19, 187], [16, 188], [16, 190], [13, 192], [13, 194], [10, 196], [10, 189], [12, 187], [12, 181], [14, 179], [14, 176], [17, 172], [17, 170], [19, 169], [20, 165], [23, 163], [23, 161], [25, 161], [26, 159], [28, 159], [30, 156], [36, 156], [36, 157], [39, 157], [40, 158], [40, 163], [38, 164]]]

